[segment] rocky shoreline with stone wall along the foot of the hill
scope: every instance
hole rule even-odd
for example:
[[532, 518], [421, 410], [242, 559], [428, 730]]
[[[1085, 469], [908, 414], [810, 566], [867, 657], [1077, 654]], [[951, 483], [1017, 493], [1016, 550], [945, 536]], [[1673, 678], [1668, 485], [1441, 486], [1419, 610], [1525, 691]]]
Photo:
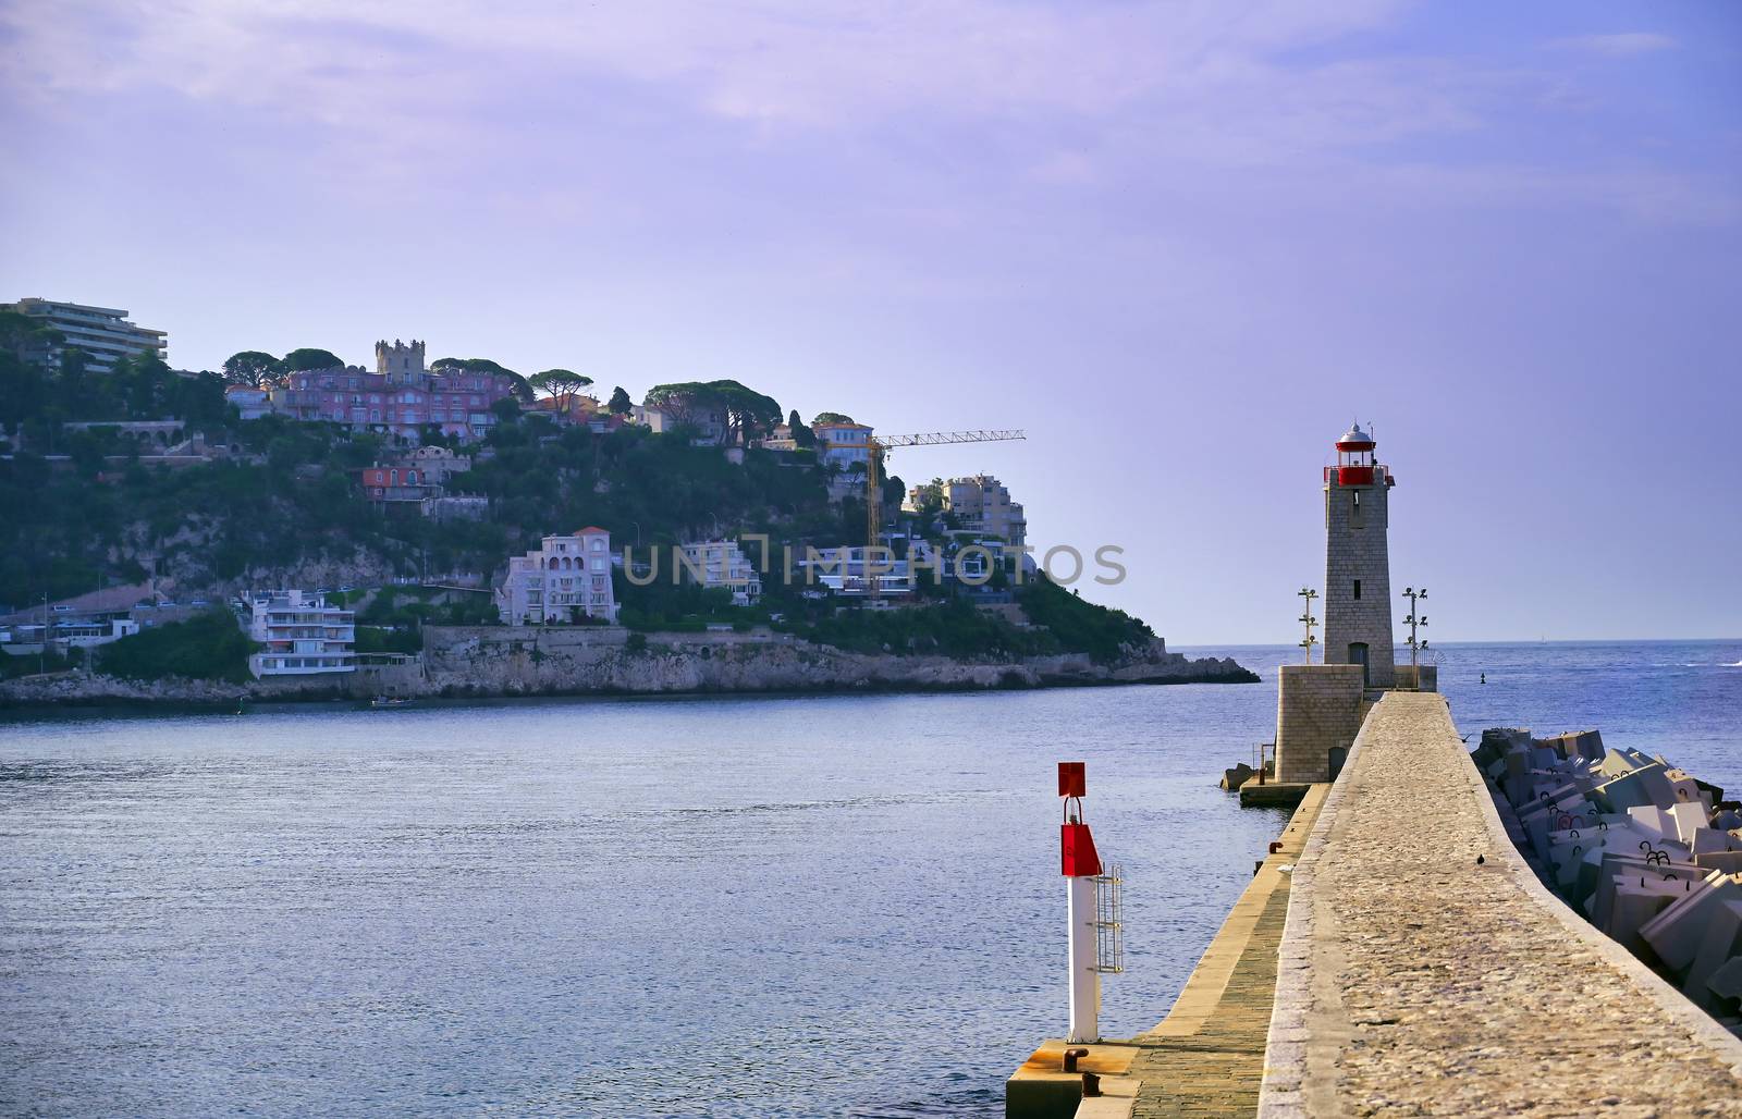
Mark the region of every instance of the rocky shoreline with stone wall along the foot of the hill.
[[1009, 662], [843, 652], [786, 634], [645, 634], [620, 629], [429, 627], [409, 664], [364, 666], [343, 678], [230, 683], [117, 680], [98, 673], [0, 683], [0, 709], [171, 708], [233, 711], [244, 702], [507, 699], [533, 695], [737, 695], [831, 692], [977, 692], [1124, 683], [1256, 683], [1230, 657], [1190, 661], [1162, 641], [1111, 664], [1084, 654]]

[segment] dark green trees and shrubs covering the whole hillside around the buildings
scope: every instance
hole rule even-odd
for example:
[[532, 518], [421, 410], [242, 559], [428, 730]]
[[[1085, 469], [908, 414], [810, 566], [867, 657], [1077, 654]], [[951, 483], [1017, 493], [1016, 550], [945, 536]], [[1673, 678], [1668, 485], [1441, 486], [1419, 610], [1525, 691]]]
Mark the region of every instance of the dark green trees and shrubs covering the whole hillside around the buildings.
[[[634, 586], [620, 570], [615, 575], [620, 621], [636, 634], [775, 624], [861, 652], [991, 661], [1057, 652], [1113, 661], [1124, 648], [1151, 638], [1141, 621], [1085, 603], [1049, 582], [1012, 587], [1033, 627], [1019, 627], [998, 612], [976, 608], [951, 587], [923, 580], [918, 601], [894, 610], [862, 610], [815, 587], [786, 586], [779, 573], [765, 579], [756, 607], [733, 607], [726, 591], [674, 586], [671, 549], [679, 540], [766, 535], [779, 563], [782, 546], [801, 554], [807, 546], [824, 549], [864, 539], [862, 498], [831, 502], [827, 471], [815, 469], [812, 451], [746, 446], [742, 462], [732, 462], [718, 448], [692, 446], [681, 425], [704, 417], [721, 417], [725, 441], [746, 444], [782, 420], [773, 399], [739, 382], [686, 382], [652, 390], [648, 403], [679, 424], [672, 434], [636, 425], [596, 434], [557, 425], [549, 415], [523, 415], [514, 399], [496, 401], [498, 424], [483, 444], [463, 448], [472, 455], [472, 469], [446, 483], [449, 493], [488, 497], [488, 516], [436, 519], [420, 516], [411, 504], [381, 505], [364, 497], [357, 471], [404, 450], [387, 434], [286, 417], [240, 422], [223, 401], [221, 376], [179, 376], [155, 357], [122, 361], [113, 373], [94, 376], [73, 352], [57, 370], [42, 370], [23, 357], [40, 342], [35, 329], [19, 315], [0, 315], [0, 422], [10, 418], [7, 434], [21, 439], [21, 448], [0, 460], [0, 587], [14, 603], [42, 594], [66, 598], [152, 573], [200, 589], [272, 580], [275, 572], [321, 563], [366, 565], [429, 580], [449, 572], [490, 577], [509, 556], [537, 547], [545, 535], [599, 525], [611, 532], [617, 547], [636, 549], [643, 561], [652, 546], [662, 549], [662, 572], [652, 586]], [[272, 383], [286, 370], [336, 361], [326, 350], [293, 350], [282, 361], [244, 350], [225, 370], [235, 382]], [[545, 370], [524, 382], [481, 357], [444, 357], [434, 368], [509, 375], [528, 394], [533, 385], [563, 396], [591, 383], [568, 370]], [[625, 392], [611, 394], [613, 410], [627, 406]], [[232, 455], [171, 471], [141, 462], [148, 448], [124, 432], [63, 427], [71, 418], [165, 415], [183, 418], [190, 431], [206, 431], [213, 443], [226, 443]], [[814, 443], [796, 410], [784, 418], [796, 443]], [[820, 413], [817, 422], [850, 420]], [[456, 446], [456, 439], [439, 432], [429, 432], [429, 439]], [[883, 485], [885, 507], [894, 511], [904, 485], [899, 478]], [[939, 500], [934, 481], [922, 495], [927, 514], [935, 512]], [[932, 519], [927, 514], [922, 525]], [[753, 560], [761, 558], [758, 546], [746, 549]], [[1009, 582], [1010, 575], [998, 572], [991, 589]], [[350, 605], [362, 607], [359, 652], [416, 650], [425, 624], [496, 621], [488, 594], [416, 586], [383, 587], [366, 603], [361, 594], [345, 594]], [[218, 627], [214, 619], [225, 624]], [[226, 640], [216, 640], [219, 631]], [[145, 678], [153, 673], [235, 678], [246, 671], [246, 638], [228, 615], [216, 614], [117, 641], [99, 661], [111, 671]]]

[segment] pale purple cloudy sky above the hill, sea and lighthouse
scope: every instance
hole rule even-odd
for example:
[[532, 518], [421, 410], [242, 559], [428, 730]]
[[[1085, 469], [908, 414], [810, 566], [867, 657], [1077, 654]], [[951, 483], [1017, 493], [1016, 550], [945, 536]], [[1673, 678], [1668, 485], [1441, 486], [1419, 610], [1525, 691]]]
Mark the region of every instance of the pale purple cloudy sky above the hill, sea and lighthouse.
[[1294, 640], [1359, 417], [1432, 636], [1742, 634], [1737, 3], [0, 0], [0, 298], [178, 366], [1024, 427], [892, 467], [1174, 643]]

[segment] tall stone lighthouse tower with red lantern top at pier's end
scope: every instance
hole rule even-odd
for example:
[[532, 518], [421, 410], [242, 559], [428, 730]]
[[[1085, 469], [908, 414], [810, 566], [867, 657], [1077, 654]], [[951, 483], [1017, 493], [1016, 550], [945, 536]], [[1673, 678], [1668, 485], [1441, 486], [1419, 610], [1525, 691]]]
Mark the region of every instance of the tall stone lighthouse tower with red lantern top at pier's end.
[[1369, 688], [1394, 683], [1392, 568], [1385, 546], [1392, 472], [1355, 424], [1324, 469], [1324, 662], [1366, 666]]

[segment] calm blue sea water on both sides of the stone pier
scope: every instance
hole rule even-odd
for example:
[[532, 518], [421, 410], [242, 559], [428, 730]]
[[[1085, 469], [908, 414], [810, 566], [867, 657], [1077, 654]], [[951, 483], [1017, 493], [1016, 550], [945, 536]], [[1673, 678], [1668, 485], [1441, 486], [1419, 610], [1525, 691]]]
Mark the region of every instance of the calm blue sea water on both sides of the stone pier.
[[[0, 723], [0, 1110], [1002, 1112], [1063, 1027], [1052, 763], [1160, 1018], [1279, 812], [1261, 685]], [[1448, 647], [1463, 730], [1742, 786], [1742, 641]], [[1477, 673], [1488, 685], [1477, 685]], [[899, 1088], [895, 1088], [899, 1086]]]

